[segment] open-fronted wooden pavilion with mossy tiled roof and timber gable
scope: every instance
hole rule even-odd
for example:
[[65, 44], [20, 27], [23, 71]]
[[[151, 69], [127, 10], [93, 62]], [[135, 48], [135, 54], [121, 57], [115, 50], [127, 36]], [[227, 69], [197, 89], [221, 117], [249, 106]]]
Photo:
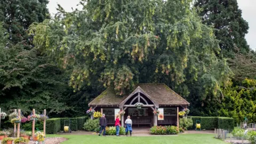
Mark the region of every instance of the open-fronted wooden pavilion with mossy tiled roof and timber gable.
[[[175, 125], [179, 126], [179, 109], [187, 108], [189, 102], [175, 93], [165, 84], [138, 84], [137, 88], [124, 96], [115, 94], [114, 89], [108, 88], [89, 103], [96, 111], [106, 115], [108, 125], [115, 124], [115, 109], [123, 109], [125, 115], [121, 117], [122, 126], [124, 118], [131, 116], [133, 125]], [[141, 102], [141, 109], [134, 106]], [[159, 120], [153, 114], [154, 109], [163, 109], [164, 118]]]

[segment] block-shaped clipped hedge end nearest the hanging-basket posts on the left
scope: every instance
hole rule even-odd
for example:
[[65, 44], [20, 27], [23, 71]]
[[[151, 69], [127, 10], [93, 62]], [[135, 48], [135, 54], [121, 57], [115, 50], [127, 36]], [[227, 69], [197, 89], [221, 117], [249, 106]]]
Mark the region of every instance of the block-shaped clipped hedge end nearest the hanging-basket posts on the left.
[[60, 131], [60, 118], [46, 119], [46, 133], [55, 134]]

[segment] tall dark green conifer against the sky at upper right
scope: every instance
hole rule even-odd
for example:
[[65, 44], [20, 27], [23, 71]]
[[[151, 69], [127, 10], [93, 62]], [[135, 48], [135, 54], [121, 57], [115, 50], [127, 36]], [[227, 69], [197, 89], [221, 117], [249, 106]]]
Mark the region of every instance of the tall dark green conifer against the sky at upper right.
[[237, 52], [236, 46], [242, 53], [249, 52], [245, 39], [249, 26], [242, 18], [242, 10], [238, 8], [236, 0], [197, 0], [195, 6], [202, 8], [199, 14], [203, 23], [217, 29], [215, 36], [220, 40], [222, 53], [230, 57], [232, 52]]

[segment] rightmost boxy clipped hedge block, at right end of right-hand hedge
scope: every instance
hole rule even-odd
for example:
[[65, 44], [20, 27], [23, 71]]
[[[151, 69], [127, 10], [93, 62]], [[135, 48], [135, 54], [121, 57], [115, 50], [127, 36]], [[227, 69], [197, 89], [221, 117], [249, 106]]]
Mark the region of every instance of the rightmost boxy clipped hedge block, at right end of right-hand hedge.
[[234, 118], [219, 117], [218, 118], [218, 129], [234, 130]]

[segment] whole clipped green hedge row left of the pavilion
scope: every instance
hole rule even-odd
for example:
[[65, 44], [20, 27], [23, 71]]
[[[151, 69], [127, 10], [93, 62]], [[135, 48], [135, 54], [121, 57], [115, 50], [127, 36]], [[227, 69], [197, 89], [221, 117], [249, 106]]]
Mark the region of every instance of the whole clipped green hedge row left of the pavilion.
[[75, 117], [75, 118], [51, 118], [46, 120], [46, 133], [57, 133], [63, 131], [64, 124], [68, 125], [70, 119], [70, 129], [71, 131], [83, 130], [83, 125], [88, 117]]

